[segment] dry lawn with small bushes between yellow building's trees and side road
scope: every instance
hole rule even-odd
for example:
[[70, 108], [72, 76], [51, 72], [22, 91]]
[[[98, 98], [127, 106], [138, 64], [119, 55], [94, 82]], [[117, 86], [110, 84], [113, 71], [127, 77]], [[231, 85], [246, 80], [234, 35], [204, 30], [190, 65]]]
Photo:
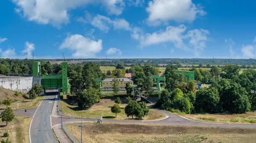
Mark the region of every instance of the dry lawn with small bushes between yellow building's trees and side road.
[[[124, 98], [122, 99], [122, 102], [125, 102]], [[76, 105], [70, 104], [70, 101], [72, 100], [65, 100], [60, 101], [60, 108], [63, 109], [63, 115], [64, 116], [71, 116], [71, 117], [79, 117], [79, 118], [100, 118], [103, 116], [105, 119], [115, 119], [115, 120], [124, 120], [124, 119], [130, 119], [131, 117], [127, 117], [125, 115], [125, 106], [127, 104], [119, 104], [119, 106], [122, 108], [120, 113], [117, 113], [117, 116], [115, 118], [115, 113], [111, 112], [111, 106], [114, 104], [114, 99], [101, 99], [99, 103], [94, 104], [90, 109], [88, 110], [81, 110]], [[149, 110], [149, 113], [147, 116], [143, 118], [143, 120], [157, 120], [161, 118], [165, 118], [166, 115], [155, 111], [153, 109]]]

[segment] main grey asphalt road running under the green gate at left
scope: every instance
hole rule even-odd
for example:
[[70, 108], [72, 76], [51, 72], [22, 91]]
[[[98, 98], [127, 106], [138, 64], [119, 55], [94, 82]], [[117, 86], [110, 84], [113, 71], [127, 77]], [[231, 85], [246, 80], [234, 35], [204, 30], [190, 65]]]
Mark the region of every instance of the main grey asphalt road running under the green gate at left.
[[[49, 92], [57, 92], [57, 90], [51, 90]], [[32, 116], [33, 118], [29, 131], [31, 143], [57, 143], [52, 133], [50, 120], [50, 113], [54, 102], [55, 94], [58, 93], [49, 93], [48, 95], [46, 95], [40, 106], [36, 108], [35, 114]], [[32, 109], [29, 109], [28, 112], [30, 115]]]

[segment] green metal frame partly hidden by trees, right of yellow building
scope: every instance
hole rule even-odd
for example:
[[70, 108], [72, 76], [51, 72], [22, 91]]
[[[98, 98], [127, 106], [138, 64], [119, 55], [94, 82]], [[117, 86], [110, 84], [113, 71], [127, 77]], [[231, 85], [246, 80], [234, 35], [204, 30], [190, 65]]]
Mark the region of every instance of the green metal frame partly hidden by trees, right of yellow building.
[[[176, 73], [176, 74], [183, 74], [184, 76], [186, 76], [186, 81], [188, 82], [188, 81], [194, 81], [195, 80], [195, 72], [192, 72], [192, 71], [184, 71], [184, 70], [174, 70], [174, 72]], [[158, 92], [160, 92], [161, 91], [161, 84], [163, 84], [164, 83], [164, 81], [165, 81], [165, 77], [160, 77], [160, 76], [158, 76], [158, 75], [156, 75], [156, 76], [151, 76], [152, 77], [152, 79], [157, 79], [157, 84], [156, 84], [156, 86], [157, 86], [157, 91]]]

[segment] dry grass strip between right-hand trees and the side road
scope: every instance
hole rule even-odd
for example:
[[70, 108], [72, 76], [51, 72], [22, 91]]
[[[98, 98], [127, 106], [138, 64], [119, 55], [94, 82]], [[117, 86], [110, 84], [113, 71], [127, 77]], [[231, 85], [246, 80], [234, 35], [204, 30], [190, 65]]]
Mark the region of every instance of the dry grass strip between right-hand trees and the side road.
[[[174, 113], [176, 114], [176, 113]], [[237, 123], [237, 124], [256, 124], [256, 112], [247, 112], [245, 114], [178, 114], [183, 117], [212, 123]]]

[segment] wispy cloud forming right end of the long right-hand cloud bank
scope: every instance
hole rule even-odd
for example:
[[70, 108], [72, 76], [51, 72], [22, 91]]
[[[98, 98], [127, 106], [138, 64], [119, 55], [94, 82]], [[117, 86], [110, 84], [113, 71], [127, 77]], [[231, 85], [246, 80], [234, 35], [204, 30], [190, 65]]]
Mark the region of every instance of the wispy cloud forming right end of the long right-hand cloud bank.
[[188, 33], [185, 35], [185, 39], [190, 39], [189, 45], [190, 47], [194, 48], [195, 56], [199, 56], [200, 52], [206, 47], [208, 34], [208, 30], [194, 29], [188, 31]]

